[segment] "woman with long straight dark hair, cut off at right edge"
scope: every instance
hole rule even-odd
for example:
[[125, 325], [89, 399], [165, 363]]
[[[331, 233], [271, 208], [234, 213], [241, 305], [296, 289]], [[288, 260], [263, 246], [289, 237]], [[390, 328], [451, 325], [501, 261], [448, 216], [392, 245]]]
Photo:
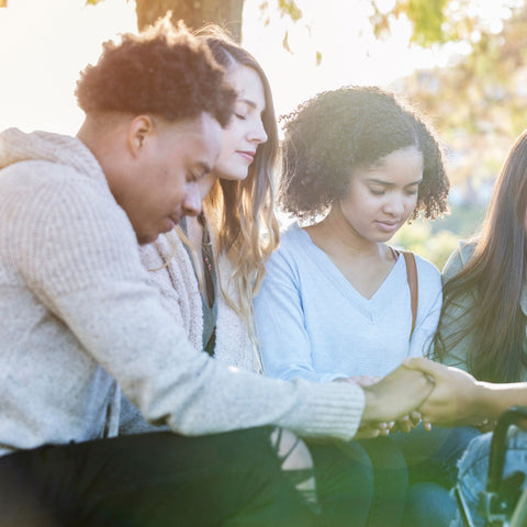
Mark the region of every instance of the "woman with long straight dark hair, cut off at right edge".
[[[527, 131], [503, 164], [481, 234], [461, 243], [442, 271], [434, 358], [473, 378], [414, 360], [440, 388], [422, 408], [423, 419], [442, 425], [480, 422], [492, 428], [511, 405], [527, 405], [526, 232]], [[476, 508], [491, 437], [474, 439], [459, 466], [458, 486], [476, 526], [484, 524]], [[517, 429], [509, 436], [504, 475], [518, 469], [527, 470], [527, 434]]]

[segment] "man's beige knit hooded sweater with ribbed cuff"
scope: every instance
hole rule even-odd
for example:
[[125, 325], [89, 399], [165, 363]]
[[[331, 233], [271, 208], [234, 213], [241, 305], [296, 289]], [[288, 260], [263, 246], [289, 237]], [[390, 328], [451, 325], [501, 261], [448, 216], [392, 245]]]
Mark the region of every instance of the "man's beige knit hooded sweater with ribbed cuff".
[[278, 425], [349, 439], [363, 392], [283, 382], [198, 352], [78, 139], [0, 134], [0, 455], [115, 435], [117, 383], [186, 435]]

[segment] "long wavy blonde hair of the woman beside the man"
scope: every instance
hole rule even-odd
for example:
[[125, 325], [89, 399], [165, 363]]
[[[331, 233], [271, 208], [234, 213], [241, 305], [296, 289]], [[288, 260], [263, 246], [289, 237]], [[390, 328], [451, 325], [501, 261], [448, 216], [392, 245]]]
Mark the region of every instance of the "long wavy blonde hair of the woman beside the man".
[[232, 269], [227, 283], [223, 283], [221, 273], [217, 273], [221, 293], [246, 323], [249, 336], [256, 343], [253, 298], [264, 280], [266, 260], [279, 242], [274, 213], [279, 142], [271, 89], [257, 60], [222, 29], [208, 25], [197, 34], [206, 42], [216, 61], [227, 69], [227, 77], [228, 70], [236, 66], [254, 69], [266, 98], [262, 123], [268, 138], [258, 146], [247, 178], [243, 181], [217, 180], [203, 202], [216, 245], [216, 259], [226, 258]]

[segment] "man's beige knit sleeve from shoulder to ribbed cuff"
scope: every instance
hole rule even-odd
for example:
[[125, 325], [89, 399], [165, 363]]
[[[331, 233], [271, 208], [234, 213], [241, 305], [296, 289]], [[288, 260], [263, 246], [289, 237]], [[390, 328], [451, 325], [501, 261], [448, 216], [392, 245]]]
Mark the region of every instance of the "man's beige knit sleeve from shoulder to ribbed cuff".
[[108, 192], [69, 179], [74, 171], [18, 201], [12, 265], [145, 418], [186, 435], [261, 425], [355, 435], [365, 404], [359, 388], [265, 379], [193, 349], [148, 284], [124, 211]]

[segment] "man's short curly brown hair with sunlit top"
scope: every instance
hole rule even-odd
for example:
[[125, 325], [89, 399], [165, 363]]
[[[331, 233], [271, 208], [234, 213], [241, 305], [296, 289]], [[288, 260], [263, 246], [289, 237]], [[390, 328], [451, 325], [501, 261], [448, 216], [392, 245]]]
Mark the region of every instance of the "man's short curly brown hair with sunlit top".
[[106, 42], [97, 65], [77, 82], [79, 106], [90, 112], [150, 113], [168, 121], [211, 114], [222, 126], [232, 115], [235, 90], [209, 46], [167, 18], [121, 43]]

